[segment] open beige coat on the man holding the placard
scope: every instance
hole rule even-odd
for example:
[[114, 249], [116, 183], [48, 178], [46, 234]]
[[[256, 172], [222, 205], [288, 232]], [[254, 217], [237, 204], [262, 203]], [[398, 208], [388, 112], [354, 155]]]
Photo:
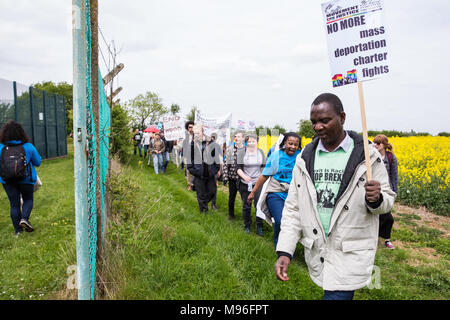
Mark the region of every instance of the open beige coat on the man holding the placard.
[[377, 249], [378, 214], [389, 212], [396, 197], [389, 187], [381, 156], [370, 144], [372, 179], [380, 182], [382, 202], [377, 208], [368, 206], [362, 138], [348, 133], [355, 147], [344, 172], [344, 187], [336, 198], [329, 237], [325, 237], [319, 219], [317, 193], [311, 179], [316, 139], [297, 157], [278, 238], [277, 252], [290, 255], [300, 241], [311, 279], [325, 290], [356, 290], [370, 283]]

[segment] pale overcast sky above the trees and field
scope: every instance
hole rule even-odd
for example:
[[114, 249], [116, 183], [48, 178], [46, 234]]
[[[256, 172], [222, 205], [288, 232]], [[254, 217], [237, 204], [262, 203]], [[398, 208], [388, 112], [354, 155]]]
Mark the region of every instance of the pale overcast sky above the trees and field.
[[[152, 91], [183, 113], [195, 105], [295, 130], [332, 92], [345, 127], [361, 131], [357, 86], [331, 86], [323, 2], [100, 0], [101, 31], [125, 65], [118, 98]], [[385, 0], [385, 11], [391, 72], [364, 82], [368, 128], [450, 131], [450, 1]], [[0, 78], [72, 83], [71, 1], [1, 0], [0, 26]], [[105, 74], [101, 56], [100, 66]]]

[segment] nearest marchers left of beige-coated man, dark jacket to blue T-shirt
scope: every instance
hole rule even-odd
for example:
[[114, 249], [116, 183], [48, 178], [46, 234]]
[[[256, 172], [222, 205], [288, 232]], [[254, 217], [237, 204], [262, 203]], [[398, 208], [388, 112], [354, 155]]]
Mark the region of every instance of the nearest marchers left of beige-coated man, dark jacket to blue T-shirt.
[[[271, 149], [268, 156], [258, 148], [259, 137], [254, 133], [237, 131], [233, 143], [225, 148], [215, 140], [214, 134], [207, 137], [201, 125], [192, 121], [186, 123], [188, 136], [183, 143], [183, 157], [187, 169], [188, 189], [195, 190], [200, 212], [217, 210], [218, 180], [228, 185], [228, 219], [235, 218], [235, 201], [239, 192], [242, 199], [242, 219], [244, 231], [251, 232], [252, 203], [256, 216], [256, 233], [263, 236], [263, 221], [270, 211], [268, 223], [274, 227], [274, 245], [278, 241], [284, 201], [295, 159], [301, 150], [301, 138], [295, 132], [286, 133], [281, 143]], [[273, 151], [273, 152], [272, 152]], [[264, 188], [265, 182], [270, 179]], [[262, 208], [257, 208], [263, 197]], [[269, 214], [267, 215], [269, 216]]]

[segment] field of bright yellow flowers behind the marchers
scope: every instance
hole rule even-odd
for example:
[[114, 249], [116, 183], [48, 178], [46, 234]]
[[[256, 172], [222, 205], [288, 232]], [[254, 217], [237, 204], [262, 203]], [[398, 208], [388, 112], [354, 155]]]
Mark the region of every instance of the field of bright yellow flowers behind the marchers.
[[[258, 146], [267, 153], [277, 139], [260, 137]], [[309, 142], [302, 137], [302, 147]], [[398, 160], [397, 200], [450, 216], [450, 137], [391, 137], [389, 142]]]

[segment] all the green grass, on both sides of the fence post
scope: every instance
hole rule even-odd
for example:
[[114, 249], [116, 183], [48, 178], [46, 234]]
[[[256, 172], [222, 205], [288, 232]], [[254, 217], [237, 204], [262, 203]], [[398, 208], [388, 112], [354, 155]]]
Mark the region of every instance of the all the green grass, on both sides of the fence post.
[[[254, 225], [250, 235], [243, 232], [239, 195], [232, 222], [223, 187], [219, 211], [200, 214], [195, 192], [187, 190], [173, 164], [155, 175], [138, 160], [133, 157], [111, 182], [114, 214], [108, 219], [101, 278], [106, 285], [99, 299], [322, 298], [301, 245], [289, 268], [291, 280], [276, 279], [272, 229], [264, 224], [263, 238]], [[72, 154], [43, 162], [38, 173], [43, 186], [31, 215], [35, 232], [14, 236], [9, 203], [0, 193], [0, 299], [76, 298], [75, 290], [66, 289], [67, 268], [76, 261]], [[396, 222], [392, 240], [404, 246], [378, 250], [381, 288], [358, 290], [355, 299], [450, 298], [449, 239], [412, 224], [419, 218], [401, 216]]]

